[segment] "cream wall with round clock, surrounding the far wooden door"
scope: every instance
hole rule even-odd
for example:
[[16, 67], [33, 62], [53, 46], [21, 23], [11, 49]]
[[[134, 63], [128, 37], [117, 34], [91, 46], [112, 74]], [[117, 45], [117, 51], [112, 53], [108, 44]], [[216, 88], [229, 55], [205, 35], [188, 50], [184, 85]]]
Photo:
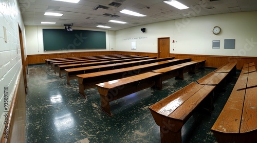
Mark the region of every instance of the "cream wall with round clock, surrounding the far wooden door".
[[[123, 29], [116, 31], [116, 50], [157, 53], [157, 38], [170, 37], [170, 53], [256, 57], [256, 15], [256, 11], [207, 15]], [[214, 35], [214, 26], [222, 32]], [[224, 49], [224, 39], [235, 39], [235, 49]], [[221, 41], [220, 49], [212, 49], [212, 40]], [[131, 50], [132, 41], [136, 41], [136, 50]]]

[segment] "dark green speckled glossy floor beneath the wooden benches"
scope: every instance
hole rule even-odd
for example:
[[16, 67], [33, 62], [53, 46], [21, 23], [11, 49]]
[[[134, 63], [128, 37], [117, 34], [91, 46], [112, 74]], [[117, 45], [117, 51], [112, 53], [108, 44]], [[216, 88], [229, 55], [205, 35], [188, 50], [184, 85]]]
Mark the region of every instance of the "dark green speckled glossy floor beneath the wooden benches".
[[[146, 88], [111, 102], [110, 117], [99, 109], [96, 88], [86, 90], [87, 99], [78, 91], [78, 81], [66, 84], [46, 65], [29, 65], [26, 99], [26, 142], [160, 142], [159, 126], [148, 109], [178, 89], [204, 77], [214, 68], [184, 74], [184, 80], [163, 81], [163, 89]], [[210, 128], [225, 105], [239, 76], [227, 83], [226, 91], [216, 93], [214, 111], [196, 110], [182, 128], [183, 142], [216, 142]]]

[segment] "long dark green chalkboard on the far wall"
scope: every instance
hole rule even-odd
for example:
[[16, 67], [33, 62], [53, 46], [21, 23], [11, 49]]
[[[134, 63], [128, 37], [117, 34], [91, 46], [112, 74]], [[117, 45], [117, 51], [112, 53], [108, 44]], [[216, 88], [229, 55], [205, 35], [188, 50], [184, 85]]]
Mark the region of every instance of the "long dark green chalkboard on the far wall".
[[106, 35], [102, 31], [43, 29], [44, 51], [106, 49]]

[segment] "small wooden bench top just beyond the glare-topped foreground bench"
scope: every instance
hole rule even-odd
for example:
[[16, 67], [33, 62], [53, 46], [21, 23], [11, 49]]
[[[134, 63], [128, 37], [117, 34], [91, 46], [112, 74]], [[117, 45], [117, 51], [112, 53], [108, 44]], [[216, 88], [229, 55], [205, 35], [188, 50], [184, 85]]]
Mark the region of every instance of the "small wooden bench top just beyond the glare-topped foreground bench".
[[218, 85], [227, 75], [228, 73], [216, 73], [212, 71], [210, 74], [199, 79], [197, 82], [204, 85]]

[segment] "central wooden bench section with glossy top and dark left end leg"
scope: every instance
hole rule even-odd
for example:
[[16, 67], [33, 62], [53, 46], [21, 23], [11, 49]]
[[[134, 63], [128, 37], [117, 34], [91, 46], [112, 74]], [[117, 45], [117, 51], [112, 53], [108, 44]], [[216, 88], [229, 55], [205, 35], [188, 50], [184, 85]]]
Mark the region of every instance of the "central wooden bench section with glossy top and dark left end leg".
[[109, 102], [152, 86], [156, 86], [159, 90], [161, 90], [161, 74], [149, 72], [99, 83], [96, 84], [96, 86], [100, 93], [101, 109], [109, 116], [112, 116], [113, 114], [110, 111]]

